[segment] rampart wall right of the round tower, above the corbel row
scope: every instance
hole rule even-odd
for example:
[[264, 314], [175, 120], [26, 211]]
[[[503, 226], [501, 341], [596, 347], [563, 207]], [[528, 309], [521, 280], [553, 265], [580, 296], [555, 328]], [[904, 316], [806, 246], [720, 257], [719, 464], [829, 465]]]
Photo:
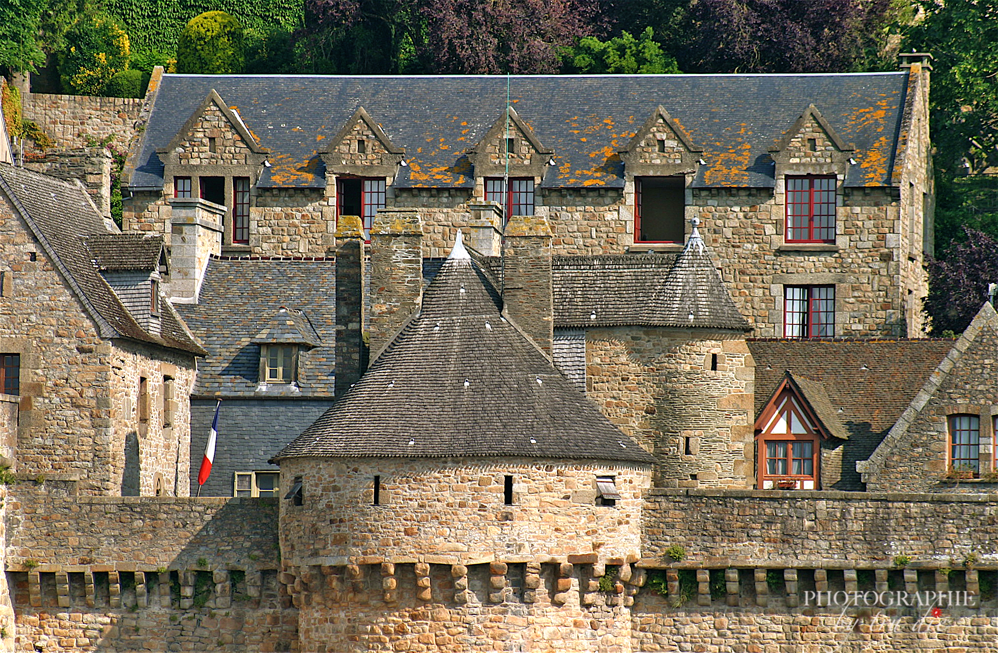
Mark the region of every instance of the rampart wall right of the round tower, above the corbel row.
[[642, 554], [668, 561], [674, 544], [706, 566], [835, 568], [913, 563], [998, 567], [994, 495], [805, 490], [653, 489]]

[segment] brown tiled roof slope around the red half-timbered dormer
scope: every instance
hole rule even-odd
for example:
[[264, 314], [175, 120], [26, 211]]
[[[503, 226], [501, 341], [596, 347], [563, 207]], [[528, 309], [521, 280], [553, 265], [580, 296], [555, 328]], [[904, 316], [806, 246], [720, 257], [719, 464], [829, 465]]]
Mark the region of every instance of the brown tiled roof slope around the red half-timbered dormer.
[[798, 381], [804, 377], [819, 382], [828, 409], [834, 410], [848, 435], [843, 475], [848, 471], [858, 480], [854, 461], [869, 457], [952, 346], [951, 339], [749, 338], [755, 361], [755, 414], [785, 371]]

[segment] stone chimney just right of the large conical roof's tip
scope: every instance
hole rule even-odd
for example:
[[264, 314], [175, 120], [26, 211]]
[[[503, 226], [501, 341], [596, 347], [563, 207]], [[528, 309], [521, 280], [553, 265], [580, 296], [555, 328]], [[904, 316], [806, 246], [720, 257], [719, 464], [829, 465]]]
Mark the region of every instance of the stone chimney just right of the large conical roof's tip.
[[506, 223], [503, 311], [551, 355], [554, 303], [551, 227], [543, 216], [512, 216]]

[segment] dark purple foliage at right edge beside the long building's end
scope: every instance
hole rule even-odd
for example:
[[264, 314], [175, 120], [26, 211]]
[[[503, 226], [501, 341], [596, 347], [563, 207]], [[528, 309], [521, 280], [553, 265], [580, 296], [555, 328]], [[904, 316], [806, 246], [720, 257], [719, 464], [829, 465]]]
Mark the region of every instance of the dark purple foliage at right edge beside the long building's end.
[[998, 283], [998, 240], [965, 228], [966, 241], [944, 260], [929, 261], [925, 313], [931, 334], [960, 333], [987, 301], [988, 284]]

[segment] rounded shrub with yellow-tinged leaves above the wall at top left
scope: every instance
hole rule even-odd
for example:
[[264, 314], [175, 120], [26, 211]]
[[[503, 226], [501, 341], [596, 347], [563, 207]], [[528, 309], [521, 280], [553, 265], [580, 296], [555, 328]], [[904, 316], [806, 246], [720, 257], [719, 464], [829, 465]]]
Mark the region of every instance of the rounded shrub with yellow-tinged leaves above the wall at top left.
[[75, 95], [100, 95], [116, 73], [128, 68], [128, 34], [105, 15], [83, 17], [66, 33], [59, 58], [63, 88]]

